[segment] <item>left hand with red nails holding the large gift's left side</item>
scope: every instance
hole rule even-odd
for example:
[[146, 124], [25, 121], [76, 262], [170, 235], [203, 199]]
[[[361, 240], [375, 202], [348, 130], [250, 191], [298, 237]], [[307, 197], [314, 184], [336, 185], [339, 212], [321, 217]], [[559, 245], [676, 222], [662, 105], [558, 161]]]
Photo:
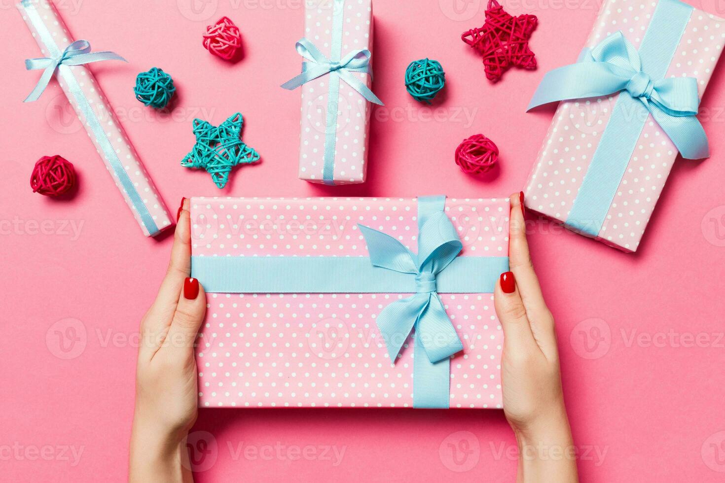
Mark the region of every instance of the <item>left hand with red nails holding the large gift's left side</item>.
[[191, 482], [184, 440], [196, 421], [194, 341], [207, 310], [191, 274], [188, 200], [181, 201], [171, 261], [141, 320], [136, 408], [130, 441], [131, 482]]

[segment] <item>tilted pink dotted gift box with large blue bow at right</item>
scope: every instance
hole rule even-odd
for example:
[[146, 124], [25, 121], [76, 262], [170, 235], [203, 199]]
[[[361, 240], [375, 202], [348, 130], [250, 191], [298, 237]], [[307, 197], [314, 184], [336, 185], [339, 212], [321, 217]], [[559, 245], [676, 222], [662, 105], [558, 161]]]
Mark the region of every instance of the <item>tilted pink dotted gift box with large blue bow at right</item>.
[[526, 207], [636, 251], [678, 151], [708, 156], [695, 114], [724, 43], [724, 20], [679, 1], [605, 1], [579, 62], [547, 73], [534, 93], [531, 106], [568, 100], [526, 182]]

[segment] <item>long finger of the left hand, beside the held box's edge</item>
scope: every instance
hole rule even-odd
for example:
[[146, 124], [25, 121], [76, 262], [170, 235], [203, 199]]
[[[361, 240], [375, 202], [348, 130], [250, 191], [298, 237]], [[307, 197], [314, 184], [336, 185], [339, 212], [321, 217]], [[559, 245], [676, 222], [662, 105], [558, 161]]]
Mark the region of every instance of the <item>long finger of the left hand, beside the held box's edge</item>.
[[169, 266], [159, 287], [156, 300], [144, 317], [142, 330], [153, 336], [149, 337], [150, 340], [161, 339], [159, 334], [168, 329], [176, 310], [183, 281], [191, 274], [191, 226], [188, 207], [188, 199], [182, 198]]

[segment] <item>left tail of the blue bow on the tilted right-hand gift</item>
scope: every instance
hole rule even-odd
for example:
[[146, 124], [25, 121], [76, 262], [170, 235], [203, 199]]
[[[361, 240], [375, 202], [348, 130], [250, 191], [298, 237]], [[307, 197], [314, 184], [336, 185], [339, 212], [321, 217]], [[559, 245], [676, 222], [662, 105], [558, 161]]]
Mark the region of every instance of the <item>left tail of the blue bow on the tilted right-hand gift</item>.
[[550, 102], [607, 96], [624, 89], [634, 71], [606, 62], [565, 65], [544, 75], [527, 111]]

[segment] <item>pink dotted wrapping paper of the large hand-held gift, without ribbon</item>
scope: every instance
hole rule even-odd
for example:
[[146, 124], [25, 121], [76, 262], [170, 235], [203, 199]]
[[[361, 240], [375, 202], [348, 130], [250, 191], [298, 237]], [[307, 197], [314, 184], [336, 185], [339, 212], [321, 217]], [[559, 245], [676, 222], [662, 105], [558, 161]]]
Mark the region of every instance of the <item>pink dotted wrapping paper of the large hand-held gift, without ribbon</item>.
[[[368, 256], [358, 223], [415, 251], [417, 203], [191, 198], [192, 256]], [[508, 257], [508, 198], [447, 198], [445, 212], [460, 256]], [[199, 406], [412, 407], [413, 340], [392, 365], [376, 326], [376, 315], [407, 295], [207, 293]], [[492, 293], [439, 296], [463, 342], [450, 363], [450, 407], [500, 408], [503, 334]]]

